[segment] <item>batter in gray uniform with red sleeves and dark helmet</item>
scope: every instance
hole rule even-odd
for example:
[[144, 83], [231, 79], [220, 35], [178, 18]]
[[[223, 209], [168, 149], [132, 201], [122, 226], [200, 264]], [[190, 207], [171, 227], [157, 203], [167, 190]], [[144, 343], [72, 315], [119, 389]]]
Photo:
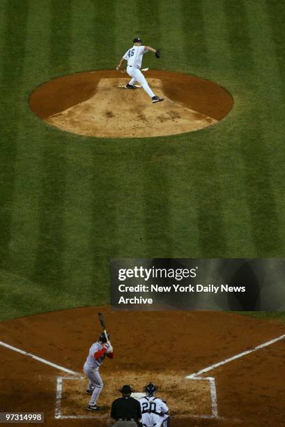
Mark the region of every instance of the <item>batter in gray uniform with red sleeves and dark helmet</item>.
[[113, 359], [114, 357], [113, 347], [109, 341], [109, 334], [107, 338], [102, 332], [98, 341], [91, 345], [83, 368], [84, 374], [86, 377], [88, 377], [89, 380], [89, 384], [86, 389], [86, 393], [91, 395], [87, 406], [87, 410], [89, 411], [99, 411], [101, 409], [101, 407], [97, 405], [98, 397], [103, 388], [103, 382], [102, 378], [100, 377], [99, 368], [102, 365], [106, 354], [110, 359]]

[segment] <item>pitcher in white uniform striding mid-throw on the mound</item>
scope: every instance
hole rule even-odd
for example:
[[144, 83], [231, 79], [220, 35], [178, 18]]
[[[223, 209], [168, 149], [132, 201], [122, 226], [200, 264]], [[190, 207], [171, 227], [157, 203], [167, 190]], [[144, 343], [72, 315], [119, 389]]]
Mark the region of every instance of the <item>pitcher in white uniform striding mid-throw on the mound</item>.
[[141, 87], [144, 88], [148, 96], [151, 97], [151, 100], [153, 103], [159, 103], [164, 98], [160, 98], [159, 96], [155, 96], [151, 88], [148, 86], [148, 82], [146, 82], [146, 77], [144, 77], [143, 73], [141, 73], [141, 61], [142, 56], [148, 51], [151, 51], [155, 54], [155, 57], [160, 58], [160, 50], [153, 49], [153, 47], [150, 46], [141, 46], [141, 39], [140, 38], [134, 38], [134, 45], [130, 47], [127, 52], [125, 52], [123, 58], [121, 59], [120, 63], [116, 67], [116, 70], [120, 70], [121, 66], [123, 65], [123, 61], [128, 61], [127, 66], [127, 73], [132, 77], [130, 82], [126, 84], [126, 89], [136, 89], [134, 86], [134, 82], [139, 82], [141, 84]]

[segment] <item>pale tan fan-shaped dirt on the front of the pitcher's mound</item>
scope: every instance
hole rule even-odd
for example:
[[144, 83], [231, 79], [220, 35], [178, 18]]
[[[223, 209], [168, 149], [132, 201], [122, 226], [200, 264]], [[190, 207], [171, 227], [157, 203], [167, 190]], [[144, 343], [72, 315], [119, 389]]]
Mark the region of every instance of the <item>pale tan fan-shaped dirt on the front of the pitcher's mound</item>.
[[68, 132], [97, 137], [174, 135], [217, 122], [167, 98], [160, 80], [149, 82], [158, 96], [164, 96], [159, 107], [151, 103], [143, 89], [130, 91], [123, 89], [123, 80], [101, 79], [91, 99], [45, 121]]

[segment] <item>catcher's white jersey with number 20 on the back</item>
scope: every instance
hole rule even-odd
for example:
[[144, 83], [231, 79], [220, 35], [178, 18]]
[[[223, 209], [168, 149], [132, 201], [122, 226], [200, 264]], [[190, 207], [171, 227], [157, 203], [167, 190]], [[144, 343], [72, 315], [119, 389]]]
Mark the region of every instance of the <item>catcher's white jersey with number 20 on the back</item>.
[[141, 422], [146, 427], [164, 427], [167, 426], [169, 409], [167, 405], [154, 396], [144, 396], [139, 398], [141, 404]]

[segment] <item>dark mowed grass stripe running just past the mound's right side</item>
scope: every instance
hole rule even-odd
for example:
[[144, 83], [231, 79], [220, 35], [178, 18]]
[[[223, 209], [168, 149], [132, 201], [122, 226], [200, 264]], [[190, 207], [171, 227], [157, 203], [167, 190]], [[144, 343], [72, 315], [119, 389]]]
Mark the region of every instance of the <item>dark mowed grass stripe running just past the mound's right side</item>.
[[[231, 132], [231, 141], [242, 157], [242, 168], [240, 172], [245, 179], [245, 188], [242, 189], [247, 197], [247, 206], [250, 212], [250, 220], [241, 222], [242, 227], [251, 223], [251, 234], [254, 248], [249, 247], [245, 241], [243, 250], [247, 256], [275, 256], [280, 250], [281, 242], [278, 232], [278, 219], [275, 201], [273, 200], [274, 188], [272, 188], [272, 165], [270, 165], [268, 142], [272, 143], [272, 136], [266, 135], [263, 126], [265, 120], [266, 127], [270, 127], [266, 115], [268, 101], [263, 87], [267, 87], [267, 82], [263, 79], [261, 63], [263, 54], [259, 51], [256, 43], [261, 45], [264, 36], [264, 26], [259, 19], [263, 14], [256, 13], [256, 8], [252, 14], [248, 14], [247, 3], [240, 3], [236, 8], [236, 20], [232, 20], [233, 8], [224, 3], [224, 10], [228, 17], [228, 32], [231, 48], [235, 55], [232, 57], [232, 66], [236, 70], [236, 75], [240, 75], [243, 85], [243, 92], [247, 91], [247, 97], [243, 99], [244, 110], [240, 109], [240, 128], [238, 133], [236, 128]], [[256, 24], [257, 23], [257, 24]], [[255, 31], [252, 31], [252, 28]], [[267, 34], [268, 36], [268, 34]], [[268, 61], [274, 61], [272, 50], [266, 50], [270, 54]], [[269, 73], [270, 75], [271, 73]], [[266, 76], [266, 80], [268, 75]], [[265, 86], [264, 86], [265, 85]], [[268, 94], [268, 98], [270, 95]], [[263, 115], [265, 114], [265, 117]], [[252, 117], [252, 121], [248, 121]], [[237, 181], [237, 179], [236, 179]], [[241, 179], [240, 179], [241, 182]], [[248, 236], [245, 233], [245, 236]]]

